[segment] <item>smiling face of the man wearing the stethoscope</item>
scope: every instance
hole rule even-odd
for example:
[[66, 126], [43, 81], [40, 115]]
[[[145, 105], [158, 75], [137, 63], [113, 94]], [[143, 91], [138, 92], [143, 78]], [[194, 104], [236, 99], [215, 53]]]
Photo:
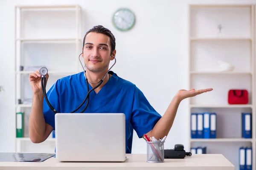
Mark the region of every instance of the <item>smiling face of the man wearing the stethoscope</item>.
[[105, 34], [90, 32], [84, 40], [84, 64], [89, 71], [108, 69], [111, 59], [110, 38]]

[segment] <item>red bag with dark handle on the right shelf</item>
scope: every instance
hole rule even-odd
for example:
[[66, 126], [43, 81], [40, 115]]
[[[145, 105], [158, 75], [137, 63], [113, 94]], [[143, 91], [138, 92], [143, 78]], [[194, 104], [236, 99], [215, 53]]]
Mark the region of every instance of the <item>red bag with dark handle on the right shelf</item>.
[[230, 89], [228, 91], [228, 103], [230, 105], [247, 104], [248, 91], [244, 89]]

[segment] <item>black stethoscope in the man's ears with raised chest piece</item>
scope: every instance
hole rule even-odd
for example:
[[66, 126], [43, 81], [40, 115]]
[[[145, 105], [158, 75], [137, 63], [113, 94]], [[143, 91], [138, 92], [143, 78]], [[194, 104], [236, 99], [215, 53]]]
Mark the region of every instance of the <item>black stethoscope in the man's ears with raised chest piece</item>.
[[[81, 54], [83, 54], [83, 53], [81, 53]], [[82, 65], [81, 60], [80, 60], [81, 54], [79, 55], [79, 62], [80, 62], [81, 66], [82, 66], [82, 68], [83, 68], [83, 70], [84, 70], [84, 66]], [[114, 56], [111, 56], [111, 57], [113, 57], [113, 58], [115, 59], [114, 64], [111, 66], [111, 68], [112, 68], [112, 67], [116, 64], [116, 57], [114, 57]], [[111, 70], [111, 68], [108, 69], [107, 73], [104, 75], [104, 77], [103, 77], [99, 82], [97, 82], [97, 83], [92, 83], [92, 82], [90, 82], [91, 84], [98, 84], [98, 85], [96, 85], [94, 88], [92, 88], [90, 91], [89, 91], [88, 79], [87, 79], [86, 74], [85, 74], [86, 71], [84, 70], [84, 77], [85, 77], [85, 81], [86, 81], [86, 85], [87, 85], [87, 95], [85, 96], [85, 99], [84, 99], [84, 101], [81, 103], [81, 105], [79, 105], [78, 108], [76, 108], [74, 111], [72, 111], [72, 112], [70, 112], [70, 113], [75, 113], [79, 108], [81, 108], [82, 105], [84, 105], [84, 102], [85, 102], [86, 100], [87, 100], [86, 106], [85, 106], [85, 108], [84, 108], [80, 113], [83, 113], [83, 112], [87, 109], [88, 104], [89, 104], [90, 92], [92, 92], [93, 90], [95, 90], [96, 88], [98, 88], [98, 87], [102, 84], [103, 80], [105, 79], [105, 77], [107, 76], [107, 74], [108, 74], [108, 72]], [[39, 69], [39, 74], [41, 74], [41, 76], [42, 76], [42, 77], [41, 77], [42, 91], [43, 91], [43, 93], [44, 93], [44, 98], [45, 98], [45, 100], [46, 100], [47, 105], [49, 106], [49, 108], [50, 108], [54, 113], [58, 113], [58, 111], [56, 111], [56, 109], [52, 107], [52, 105], [50, 104], [50, 102], [49, 102], [49, 100], [48, 100], [48, 97], [47, 97], [47, 93], [46, 93], [46, 75], [47, 75], [47, 73], [48, 73], [48, 70], [47, 70], [46, 67], [41, 67], [41, 68]]]

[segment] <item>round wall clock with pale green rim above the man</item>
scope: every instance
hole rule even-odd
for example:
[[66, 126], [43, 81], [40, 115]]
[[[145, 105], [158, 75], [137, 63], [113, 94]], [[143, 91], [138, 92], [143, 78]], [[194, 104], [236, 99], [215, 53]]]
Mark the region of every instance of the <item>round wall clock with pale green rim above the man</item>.
[[135, 15], [127, 8], [120, 8], [114, 13], [112, 22], [118, 30], [127, 31], [134, 26]]

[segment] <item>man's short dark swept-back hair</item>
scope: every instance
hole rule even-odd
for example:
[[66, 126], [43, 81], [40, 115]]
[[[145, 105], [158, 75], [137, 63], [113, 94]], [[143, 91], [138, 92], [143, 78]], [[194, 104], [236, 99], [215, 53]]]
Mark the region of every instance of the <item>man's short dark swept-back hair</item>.
[[[99, 26], [93, 26], [93, 28], [91, 28], [85, 34], [84, 41], [85, 41], [85, 38], [86, 38], [87, 34], [89, 34], [90, 32], [96, 32], [96, 33], [105, 34], [105, 35], [107, 35], [110, 38], [111, 55], [112, 55], [112, 52], [116, 49], [116, 38], [114, 37], [112, 32], [108, 28], [105, 28], [105, 27], [100, 26], [100, 25]], [[83, 48], [84, 48], [84, 43], [85, 43], [84, 41], [83, 41]]]

